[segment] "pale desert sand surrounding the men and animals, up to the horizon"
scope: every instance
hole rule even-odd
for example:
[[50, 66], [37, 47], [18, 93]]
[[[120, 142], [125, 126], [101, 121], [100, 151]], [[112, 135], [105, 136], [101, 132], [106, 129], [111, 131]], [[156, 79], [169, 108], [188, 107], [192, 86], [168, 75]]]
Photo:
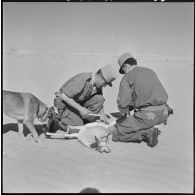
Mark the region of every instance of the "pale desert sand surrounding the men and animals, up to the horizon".
[[[94, 71], [111, 63], [117, 71], [116, 59], [116, 56], [37, 57], [8, 53], [4, 56], [3, 89], [32, 92], [52, 105], [54, 92], [75, 74], [74, 64], [83, 66], [83, 71]], [[168, 124], [158, 126], [161, 135], [156, 147], [110, 140], [111, 153], [99, 153], [76, 139], [46, 138], [36, 121], [42, 141], [39, 145], [22, 140], [16, 121], [4, 117], [3, 192], [77, 193], [88, 187], [101, 193], [193, 192], [193, 65], [184, 59], [141, 58], [138, 64], [156, 71], [174, 109]], [[43, 74], [45, 69], [49, 70], [47, 74]], [[120, 79], [118, 74], [113, 88], [105, 89], [107, 113], [118, 111]]]

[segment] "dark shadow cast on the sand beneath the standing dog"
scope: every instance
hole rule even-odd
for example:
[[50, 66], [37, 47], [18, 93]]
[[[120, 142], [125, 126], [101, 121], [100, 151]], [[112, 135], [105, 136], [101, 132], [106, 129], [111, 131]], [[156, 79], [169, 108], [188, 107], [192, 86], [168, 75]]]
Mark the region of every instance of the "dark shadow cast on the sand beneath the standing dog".
[[[38, 133], [38, 135], [41, 135], [43, 133], [44, 130], [44, 125], [34, 125], [35, 129]], [[30, 133], [30, 131], [28, 130], [28, 128], [23, 125], [24, 128], [24, 136], [26, 136], [27, 134]], [[18, 124], [17, 123], [7, 123], [3, 125], [3, 134], [7, 133], [9, 131], [14, 131], [14, 132], [18, 132]]]

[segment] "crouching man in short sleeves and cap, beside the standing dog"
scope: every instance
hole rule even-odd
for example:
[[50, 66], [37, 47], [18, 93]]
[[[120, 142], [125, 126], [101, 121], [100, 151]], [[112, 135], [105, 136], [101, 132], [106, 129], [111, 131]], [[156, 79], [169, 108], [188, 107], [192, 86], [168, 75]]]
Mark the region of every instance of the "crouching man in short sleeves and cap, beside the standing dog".
[[100, 119], [106, 122], [102, 88], [107, 85], [112, 87], [115, 79], [116, 73], [108, 64], [95, 73], [79, 73], [66, 81], [54, 99], [59, 127], [66, 130], [67, 125], [80, 126], [92, 122], [96, 117], [91, 113], [100, 114]]

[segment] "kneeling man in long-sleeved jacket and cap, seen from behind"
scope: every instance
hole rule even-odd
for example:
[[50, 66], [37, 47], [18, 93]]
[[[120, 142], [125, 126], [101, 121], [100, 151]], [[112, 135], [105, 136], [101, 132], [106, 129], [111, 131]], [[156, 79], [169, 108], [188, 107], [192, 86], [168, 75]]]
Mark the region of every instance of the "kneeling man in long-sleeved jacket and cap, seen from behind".
[[[118, 59], [120, 82], [117, 105], [123, 120], [118, 122], [112, 140], [120, 142], [146, 142], [154, 147], [158, 143], [159, 130], [155, 125], [166, 124], [173, 110], [167, 105], [168, 94], [156, 73], [137, 65], [131, 53]], [[134, 110], [132, 116], [130, 111]]]

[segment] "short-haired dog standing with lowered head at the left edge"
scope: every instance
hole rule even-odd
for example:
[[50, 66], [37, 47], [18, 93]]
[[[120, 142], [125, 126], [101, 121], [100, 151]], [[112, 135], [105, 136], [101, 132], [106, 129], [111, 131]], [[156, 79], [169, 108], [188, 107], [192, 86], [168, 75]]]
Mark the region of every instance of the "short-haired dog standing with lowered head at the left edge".
[[37, 118], [44, 123], [53, 113], [54, 107], [47, 107], [31, 93], [21, 93], [3, 90], [3, 112], [5, 115], [14, 118], [18, 122], [19, 134], [24, 138], [23, 124], [30, 130], [30, 137], [34, 141], [41, 143], [37, 131], [34, 127], [34, 120]]

